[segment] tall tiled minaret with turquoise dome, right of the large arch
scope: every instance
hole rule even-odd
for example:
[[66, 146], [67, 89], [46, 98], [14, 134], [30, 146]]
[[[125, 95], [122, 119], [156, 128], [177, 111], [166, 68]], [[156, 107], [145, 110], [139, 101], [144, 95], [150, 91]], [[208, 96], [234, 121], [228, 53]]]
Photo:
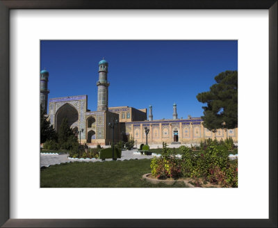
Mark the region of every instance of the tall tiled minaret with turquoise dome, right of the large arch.
[[97, 81], [97, 111], [108, 110], [108, 86], [107, 81], [108, 63], [106, 60], [99, 61], [99, 81]]

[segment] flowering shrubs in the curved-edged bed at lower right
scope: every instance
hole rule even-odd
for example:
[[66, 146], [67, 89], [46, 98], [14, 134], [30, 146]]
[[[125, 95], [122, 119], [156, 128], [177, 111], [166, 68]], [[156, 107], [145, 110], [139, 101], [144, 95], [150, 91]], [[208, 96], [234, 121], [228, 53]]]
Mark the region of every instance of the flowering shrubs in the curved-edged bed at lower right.
[[163, 143], [162, 156], [153, 158], [152, 175], [158, 179], [191, 177], [202, 178], [211, 184], [222, 184], [224, 187], [238, 186], [238, 162], [229, 160], [227, 149], [211, 141], [200, 152], [193, 152], [188, 147], [181, 146], [181, 158], [171, 153]]

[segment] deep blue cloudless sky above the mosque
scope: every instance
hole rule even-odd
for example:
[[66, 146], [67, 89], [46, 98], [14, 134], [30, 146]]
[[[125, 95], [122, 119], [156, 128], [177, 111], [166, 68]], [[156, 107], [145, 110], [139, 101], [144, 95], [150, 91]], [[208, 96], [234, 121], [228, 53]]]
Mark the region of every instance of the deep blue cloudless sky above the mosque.
[[238, 70], [237, 41], [41, 41], [40, 68], [49, 71], [49, 98], [88, 95], [97, 109], [98, 63], [108, 61], [108, 106], [153, 106], [154, 120], [200, 117], [196, 99], [214, 77]]

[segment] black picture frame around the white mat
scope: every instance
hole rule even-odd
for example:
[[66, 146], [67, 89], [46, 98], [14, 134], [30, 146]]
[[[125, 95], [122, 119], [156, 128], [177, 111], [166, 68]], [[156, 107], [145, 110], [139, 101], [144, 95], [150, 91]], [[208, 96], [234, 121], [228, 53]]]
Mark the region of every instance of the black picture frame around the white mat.
[[[3, 227], [277, 227], [277, 0], [0, 0], [0, 225]], [[268, 9], [269, 219], [10, 219], [9, 11], [11, 9]]]

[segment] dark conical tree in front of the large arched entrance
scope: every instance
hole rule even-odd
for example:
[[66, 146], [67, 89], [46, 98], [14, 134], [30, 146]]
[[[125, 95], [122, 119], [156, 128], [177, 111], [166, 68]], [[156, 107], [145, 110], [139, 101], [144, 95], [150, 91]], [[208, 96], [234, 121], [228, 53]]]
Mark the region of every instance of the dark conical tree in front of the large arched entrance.
[[67, 118], [63, 118], [60, 124], [60, 129], [58, 132], [58, 143], [60, 149], [72, 149], [74, 146], [78, 146], [78, 140], [74, 136], [74, 131], [70, 128]]

